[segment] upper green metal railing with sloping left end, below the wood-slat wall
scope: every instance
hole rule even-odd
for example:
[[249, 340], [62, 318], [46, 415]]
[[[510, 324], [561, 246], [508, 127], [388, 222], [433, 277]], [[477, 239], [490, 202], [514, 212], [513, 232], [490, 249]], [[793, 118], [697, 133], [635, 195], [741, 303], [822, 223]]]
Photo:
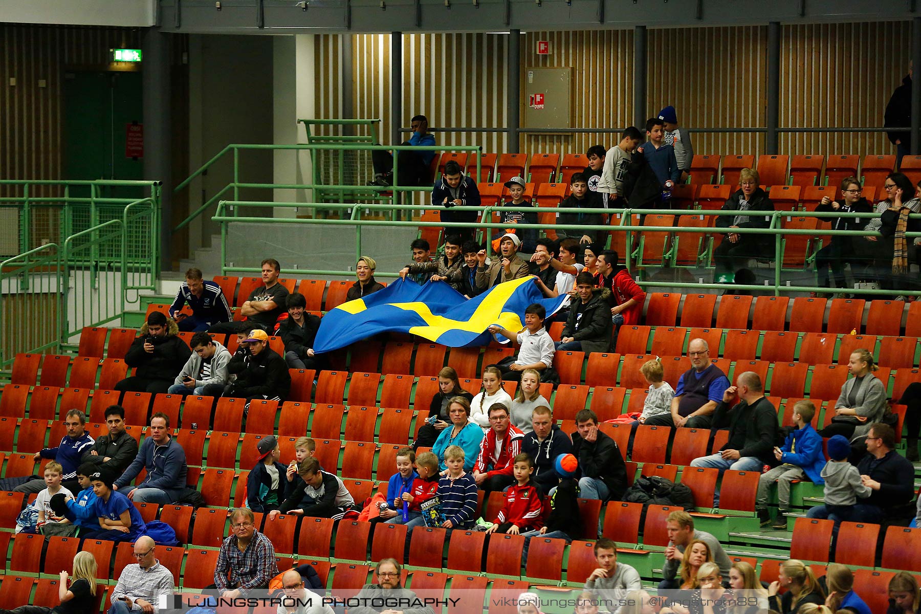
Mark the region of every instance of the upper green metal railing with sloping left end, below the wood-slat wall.
[[[339, 121], [336, 121], [339, 122]], [[319, 122], [318, 122], [319, 123]], [[298, 144], [298, 145], [246, 145], [246, 144], [232, 144], [227, 145], [222, 149], [216, 156], [208, 160], [202, 168], [199, 168], [192, 173], [186, 180], [182, 181], [176, 188], [174, 192], [178, 192], [186, 189], [192, 180], [204, 174], [208, 168], [213, 167], [217, 162], [222, 159], [225, 159], [227, 156], [233, 157], [233, 181], [228, 183], [220, 191], [217, 191], [216, 194], [211, 196], [208, 200], [201, 204], [197, 209], [192, 211], [184, 220], [182, 220], [176, 227], [173, 228], [173, 232], [177, 232], [188, 226], [192, 220], [197, 218], [199, 215], [204, 214], [204, 212], [211, 209], [213, 206], [216, 206], [216, 203], [222, 201], [227, 192], [233, 192], [233, 198], [229, 199], [228, 202], [239, 202], [239, 191], [240, 189], [262, 189], [262, 190], [310, 190], [313, 192], [314, 201], [313, 203], [280, 203], [279, 206], [295, 206], [295, 208], [308, 208], [313, 209], [316, 212], [342, 212], [346, 209], [351, 208], [355, 203], [363, 203], [365, 200], [378, 201], [378, 202], [387, 202], [391, 204], [384, 206], [381, 209], [376, 209], [382, 212], [391, 212], [391, 215], [395, 215], [397, 212], [401, 211], [415, 211], [418, 207], [414, 209], [402, 209], [401, 205], [401, 195], [411, 192], [430, 192], [432, 191], [432, 186], [402, 186], [399, 185], [399, 177], [397, 172], [397, 160], [396, 156], [393, 156], [393, 185], [391, 186], [368, 186], [368, 185], [331, 185], [327, 183], [318, 182], [316, 176], [313, 183], [250, 183], [240, 181], [239, 179], [239, 153], [241, 151], [285, 151], [285, 150], [296, 150], [296, 151], [309, 151], [314, 152], [344, 152], [344, 151], [414, 151], [414, 152], [423, 152], [423, 151], [434, 151], [434, 152], [445, 152], [445, 151], [466, 151], [466, 152], [476, 152], [477, 154], [482, 153], [483, 148], [479, 145], [476, 146], [456, 146], [456, 145], [327, 145], [327, 144]], [[481, 174], [481, 156], [476, 156], [476, 173], [477, 177], [480, 177]], [[314, 165], [316, 167], [316, 165]], [[339, 195], [337, 200], [334, 203], [329, 203], [324, 201], [324, 198], [331, 197], [330, 195]], [[318, 198], [319, 197], [319, 198]], [[352, 203], [346, 202], [346, 197], [354, 199]], [[260, 202], [262, 203], [262, 202]], [[367, 203], [372, 204], [372, 203]], [[363, 203], [364, 207], [365, 204]]]

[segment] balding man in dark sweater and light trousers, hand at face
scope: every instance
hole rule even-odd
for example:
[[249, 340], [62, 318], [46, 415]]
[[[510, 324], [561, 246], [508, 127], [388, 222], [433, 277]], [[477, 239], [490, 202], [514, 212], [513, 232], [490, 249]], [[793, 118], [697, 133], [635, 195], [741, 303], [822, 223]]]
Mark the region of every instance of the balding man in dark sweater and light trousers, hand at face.
[[[735, 400], [736, 405], [731, 403]], [[736, 386], [726, 388], [722, 402], [713, 414], [713, 427], [729, 426], [729, 441], [708, 457], [694, 458], [692, 467], [715, 467], [722, 475], [726, 469], [758, 471], [774, 458], [777, 437], [777, 411], [764, 396], [761, 377], [746, 371], [736, 379]], [[719, 504], [719, 491], [714, 505]]]

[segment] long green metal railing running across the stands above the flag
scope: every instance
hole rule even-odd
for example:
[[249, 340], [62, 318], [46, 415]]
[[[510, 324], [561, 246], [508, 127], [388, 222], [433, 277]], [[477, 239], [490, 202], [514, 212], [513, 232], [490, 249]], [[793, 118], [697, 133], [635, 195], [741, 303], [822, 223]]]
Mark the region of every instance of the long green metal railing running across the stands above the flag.
[[[470, 228], [471, 224], [460, 223], [460, 222], [451, 222], [444, 223], [440, 221], [400, 221], [400, 220], [368, 220], [361, 219], [363, 211], [402, 211], [402, 212], [416, 212], [421, 213], [423, 211], [431, 210], [440, 210], [440, 207], [434, 205], [393, 205], [393, 204], [361, 204], [360, 206], [351, 207], [351, 215], [349, 219], [319, 219], [319, 218], [294, 218], [294, 217], [276, 217], [271, 220], [264, 217], [245, 217], [234, 214], [235, 209], [240, 206], [246, 207], [315, 207], [317, 209], [323, 209], [324, 207], [332, 208], [342, 208], [343, 204], [325, 204], [325, 203], [262, 203], [258, 201], [221, 201], [218, 203], [216, 215], [212, 218], [214, 221], [218, 222], [221, 225], [221, 256], [222, 261], [227, 262], [227, 225], [229, 224], [239, 224], [239, 223], [249, 223], [249, 224], [264, 224], [271, 223], [273, 225], [277, 224], [296, 224], [296, 225], [314, 225], [322, 224], [327, 226], [355, 226], [356, 228], [356, 260], [361, 256], [360, 246], [361, 246], [361, 234], [362, 228], [369, 227], [459, 227], [459, 228]], [[497, 212], [502, 211], [519, 211], [519, 207], [514, 206], [485, 206], [485, 207], [470, 207], [470, 206], [458, 206], [452, 207], [452, 211], [476, 211], [482, 213], [483, 220], [490, 220], [491, 215]], [[782, 281], [783, 272], [811, 272], [809, 268], [810, 261], [807, 260], [804, 263], [804, 266], [800, 269], [784, 269], [784, 248], [785, 248], [785, 239], [784, 236], [792, 235], [806, 235], [815, 237], [815, 243], [812, 245], [811, 252], [814, 254], [819, 248], [821, 248], [821, 238], [825, 236], [844, 236], [844, 237], [880, 237], [878, 232], [863, 232], [856, 230], [831, 230], [831, 229], [810, 229], [810, 228], [785, 228], [782, 226], [781, 221], [784, 217], [819, 217], [819, 218], [829, 218], [829, 217], [876, 217], [875, 213], [847, 213], [847, 214], [834, 214], [830, 215], [827, 213], [816, 213], [808, 211], [773, 211], [773, 212], [725, 212], [725, 211], [713, 211], [713, 210], [688, 210], [688, 209], [571, 209], [564, 207], [538, 207], [535, 209], [535, 213], [538, 214], [611, 214], [613, 216], [619, 216], [620, 220], [616, 226], [602, 226], [602, 225], [565, 225], [565, 224], [556, 224], [552, 226], [544, 224], [516, 224], [515, 227], [519, 229], [530, 229], [535, 228], [540, 231], [546, 230], [549, 228], [554, 229], [572, 229], [581, 232], [594, 232], [594, 231], [608, 231], [608, 232], [623, 232], [625, 238], [625, 244], [631, 245], [634, 243], [633, 239], [636, 236], [642, 237], [644, 232], [665, 232], [671, 233], [674, 235], [717, 235], [722, 234], [725, 230], [724, 228], [715, 228], [712, 226], [709, 227], [683, 227], [683, 226], [639, 226], [631, 224], [630, 221], [633, 219], [633, 215], [647, 215], [647, 214], [673, 214], [676, 216], [679, 215], [704, 215], [704, 216], [720, 216], [726, 214], [732, 215], [749, 215], [752, 217], [771, 217], [770, 225], [767, 228], [733, 228], [732, 232], [739, 233], [740, 235], [762, 235], [769, 236], [774, 238], [774, 254], [773, 256], [768, 254], [764, 256], [764, 260], [770, 259], [773, 261], [774, 265], [774, 284], [765, 284], [765, 285], [745, 285], [745, 284], [734, 284], [733, 288], [740, 290], [750, 290], [750, 291], [772, 291], [775, 295], [780, 295], [782, 293], [806, 293], [806, 292], [828, 292], [829, 289], [821, 287], [818, 285], [792, 285], [786, 284]], [[912, 218], [921, 218], [921, 214], [912, 214]], [[490, 221], [483, 221], [475, 225], [478, 228], [484, 230], [484, 237], [490, 235], [490, 230], [501, 231], [508, 227], [507, 224], [495, 223]], [[909, 241], [914, 241], [915, 237], [921, 237], [921, 233], [905, 233], [905, 236]], [[700, 256], [707, 257], [712, 252], [712, 246], [705, 246], [701, 250]], [[635, 254], [636, 252], [634, 252]], [[254, 267], [224, 267], [224, 272], [258, 272], [259, 269]], [[299, 269], [298, 272], [303, 274], [312, 274], [312, 275], [342, 275], [351, 277], [354, 273], [351, 271], [329, 271], [329, 270], [303, 270]], [[375, 275], [378, 277], [396, 277], [397, 272], [375, 272]], [[715, 290], [725, 290], [726, 284], [706, 284], [706, 283], [687, 283], [681, 281], [670, 281], [670, 282], [658, 282], [651, 280], [638, 280], [638, 283], [641, 286], [646, 288], [657, 288], [657, 287], [668, 287], [668, 288], [683, 288], [693, 291], [699, 291], [701, 289], [715, 289]], [[866, 295], [914, 295], [916, 290], [913, 289], [866, 289], [860, 290], [860, 294]]]

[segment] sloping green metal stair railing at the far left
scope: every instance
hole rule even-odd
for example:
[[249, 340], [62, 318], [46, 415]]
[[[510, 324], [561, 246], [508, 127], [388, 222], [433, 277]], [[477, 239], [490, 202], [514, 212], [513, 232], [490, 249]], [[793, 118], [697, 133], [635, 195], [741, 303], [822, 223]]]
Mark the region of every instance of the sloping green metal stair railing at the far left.
[[[111, 199], [103, 199], [111, 200]], [[153, 290], [159, 206], [144, 198], [109, 219], [0, 262], [0, 368], [17, 353], [60, 351], [85, 326], [121, 320]]]

